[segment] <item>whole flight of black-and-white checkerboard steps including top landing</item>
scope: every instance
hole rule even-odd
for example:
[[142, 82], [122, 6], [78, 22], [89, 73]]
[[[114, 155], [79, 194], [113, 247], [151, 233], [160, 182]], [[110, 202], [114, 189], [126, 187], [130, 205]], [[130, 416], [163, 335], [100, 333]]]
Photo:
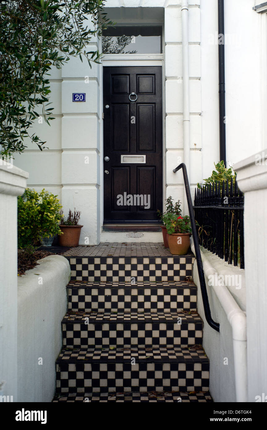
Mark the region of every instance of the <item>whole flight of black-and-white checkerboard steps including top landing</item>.
[[192, 255], [171, 256], [158, 243], [105, 243], [64, 255], [72, 280], [54, 402], [212, 401], [197, 290], [185, 281]]

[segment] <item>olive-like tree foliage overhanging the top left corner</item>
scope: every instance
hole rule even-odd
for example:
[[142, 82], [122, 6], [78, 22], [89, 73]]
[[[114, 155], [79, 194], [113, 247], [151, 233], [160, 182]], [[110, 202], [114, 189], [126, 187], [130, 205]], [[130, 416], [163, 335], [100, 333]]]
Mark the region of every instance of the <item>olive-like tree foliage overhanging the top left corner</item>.
[[49, 71], [70, 56], [98, 62], [88, 43], [110, 24], [103, 0], [0, 2], [0, 154], [23, 152], [26, 137], [44, 148], [30, 128], [40, 114], [53, 119]]

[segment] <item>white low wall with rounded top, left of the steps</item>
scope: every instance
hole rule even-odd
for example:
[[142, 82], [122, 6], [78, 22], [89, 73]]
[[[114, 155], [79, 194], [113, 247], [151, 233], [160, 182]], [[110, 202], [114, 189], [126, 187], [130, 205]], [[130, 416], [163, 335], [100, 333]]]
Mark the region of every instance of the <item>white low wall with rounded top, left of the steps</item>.
[[69, 279], [70, 264], [61, 255], [18, 277], [18, 402], [52, 401]]

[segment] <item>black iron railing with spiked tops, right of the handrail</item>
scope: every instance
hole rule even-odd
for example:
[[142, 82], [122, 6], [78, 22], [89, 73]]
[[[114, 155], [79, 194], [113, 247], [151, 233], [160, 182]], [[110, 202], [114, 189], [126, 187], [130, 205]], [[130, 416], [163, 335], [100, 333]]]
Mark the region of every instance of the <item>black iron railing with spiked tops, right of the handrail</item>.
[[195, 190], [194, 213], [199, 243], [234, 266], [244, 268], [244, 195], [233, 180]]

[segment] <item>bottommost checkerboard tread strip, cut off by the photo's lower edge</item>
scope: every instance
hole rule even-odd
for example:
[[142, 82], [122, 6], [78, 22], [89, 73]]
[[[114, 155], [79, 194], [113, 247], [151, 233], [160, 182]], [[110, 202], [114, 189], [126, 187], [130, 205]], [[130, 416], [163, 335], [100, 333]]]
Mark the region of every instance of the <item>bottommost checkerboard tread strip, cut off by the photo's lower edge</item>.
[[207, 403], [212, 402], [212, 398], [209, 392], [180, 393], [162, 391], [155, 393], [155, 391], [150, 391], [149, 393], [67, 393], [67, 395], [55, 396], [53, 402]]

